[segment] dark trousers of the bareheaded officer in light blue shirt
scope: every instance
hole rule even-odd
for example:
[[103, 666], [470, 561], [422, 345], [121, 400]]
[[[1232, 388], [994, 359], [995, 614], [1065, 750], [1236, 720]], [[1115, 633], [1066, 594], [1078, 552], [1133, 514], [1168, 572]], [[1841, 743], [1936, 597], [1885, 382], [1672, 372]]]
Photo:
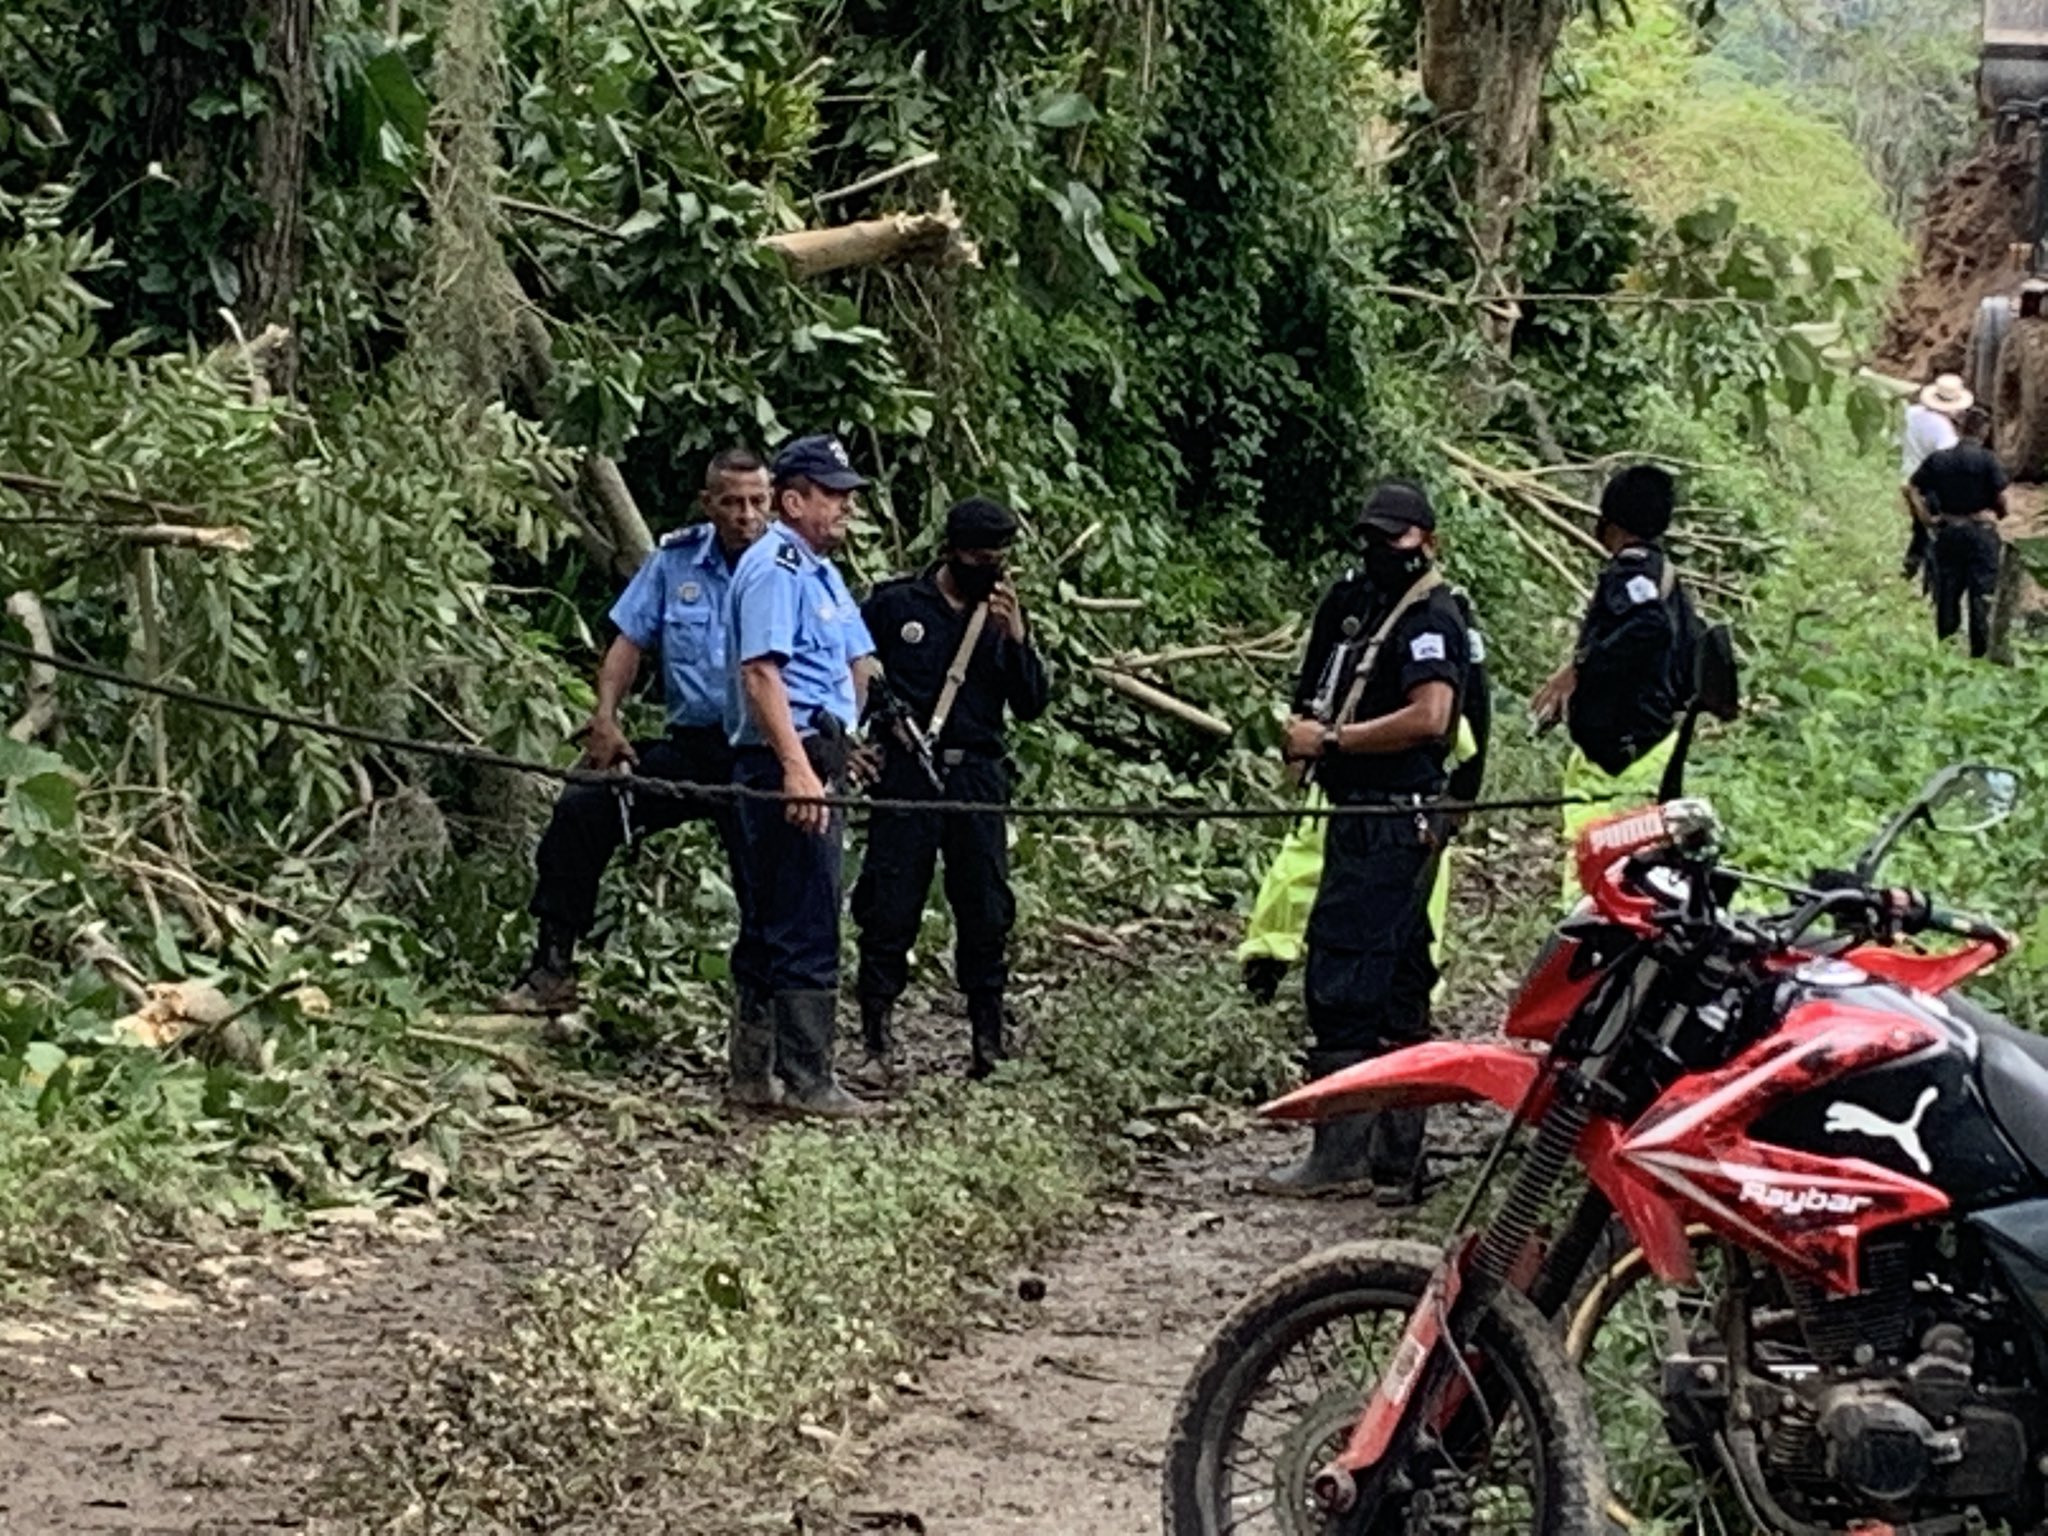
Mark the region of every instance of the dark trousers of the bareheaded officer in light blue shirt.
[[[643, 778], [727, 784], [733, 776], [733, 750], [725, 743], [725, 731], [715, 725], [678, 727], [653, 741], [637, 741], [633, 750], [639, 754], [635, 774]], [[621, 815], [621, 803], [625, 815]], [[750, 887], [739, 846], [739, 811], [731, 801], [633, 791], [631, 778], [623, 778], [618, 788], [569, 784], [555, 801], [555, 815], [549, 817], [535, 854], [539, 879], [528, 903], [532, 915], [565, 928], [578, 938], [588, 934], [598, 915], [598, 885], [604, 881], [604, 868], [612, 862], [612, 854], [627, 840], [627, 821], [633, 823], [635, 838], [668, 831], [686, 821], [711, 821], [717, 827], [733, 879], [733, 899], [739, 903], [733, 977], [758, 985], [762, 963], [745, 938]]]

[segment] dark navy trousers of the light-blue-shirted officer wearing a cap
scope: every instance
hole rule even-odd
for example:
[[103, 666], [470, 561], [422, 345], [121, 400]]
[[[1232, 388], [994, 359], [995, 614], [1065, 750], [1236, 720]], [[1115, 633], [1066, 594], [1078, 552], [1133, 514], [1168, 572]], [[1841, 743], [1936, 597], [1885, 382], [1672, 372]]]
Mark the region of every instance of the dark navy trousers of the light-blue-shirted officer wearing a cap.
[[[741, 748], [733, 778], [748, 788], [778, 791], [782, 764], [768, 748]], [[834, 811], [829, 829], [819, 836], [791, 825], [782, 801], [745, 799], [739, 829], [754, 891], [752, 930], [741, 944], [758, 946], [768, 991], [838, 991], [846, 815]]]

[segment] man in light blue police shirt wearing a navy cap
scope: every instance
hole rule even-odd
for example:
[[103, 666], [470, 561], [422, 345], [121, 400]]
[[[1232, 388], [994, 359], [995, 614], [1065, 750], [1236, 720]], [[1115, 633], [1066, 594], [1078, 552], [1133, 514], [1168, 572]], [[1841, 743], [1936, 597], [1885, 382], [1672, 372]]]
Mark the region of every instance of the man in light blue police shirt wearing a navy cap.
[[831, 1118], [868, 1112], [831, 1069], [840, 997], [840, 866], [846, 819], [819, 801], [844, 788], [848, 733], [866, 698], [874, 643], [831, 565], [866, 485], [838, 438], [797, 438], [774, 461], [776, 522], [733, 571], [725, 725], [733, 776], [786, 799], [745, 799], [741, 842], [754, 889], [748, 940], [766, 956], [770, 1024], [735, 1092]]

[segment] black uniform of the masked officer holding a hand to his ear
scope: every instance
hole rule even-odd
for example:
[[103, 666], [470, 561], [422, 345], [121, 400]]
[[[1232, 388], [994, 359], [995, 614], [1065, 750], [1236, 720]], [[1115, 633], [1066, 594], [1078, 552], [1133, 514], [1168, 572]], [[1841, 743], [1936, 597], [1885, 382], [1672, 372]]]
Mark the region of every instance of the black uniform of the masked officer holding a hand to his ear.
[[[862, 606], [887, 686], [922, 723], [932, 719], [946, 672], [967, 635], [969, 610], [938, 590], [936, 567], [918, 578], [885, 582]], [[1010, 764], [1004, 711], [1020, 721], [1044, 715], [1051, 694], [1044, 662], [989, 621], [954, 696], [944, 733], [934, 741], [944, 799], [1006, 803]], [[895, 739], [885, 739], [881, 799], [938, 801], [924, 768]], [[893, 1004], [907, 985], [911, 944], [924, 920], [934, 866], [944, 858], [946, 905], [956, 930], [954, 977], [961, 991], [991, 997], [1008, 983], [1008, 944], [1016, 924], [1010, 893], [1008, 827], [1001, 815], [928, 815], [877, 811], [868, 821], [866, 858], [854, 885], [860, 928], [860, 1001]]]

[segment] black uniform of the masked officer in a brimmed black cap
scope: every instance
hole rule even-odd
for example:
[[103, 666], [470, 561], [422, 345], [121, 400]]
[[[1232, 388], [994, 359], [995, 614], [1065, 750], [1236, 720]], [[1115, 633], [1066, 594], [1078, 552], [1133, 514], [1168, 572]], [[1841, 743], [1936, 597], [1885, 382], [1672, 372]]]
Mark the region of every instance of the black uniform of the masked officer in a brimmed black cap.
[[[1317, 713], [1319, 694], [1341, 707], [1352, 690], [1346, 674], [1362, 657], [1329, 678], [1331, 655], [1346, 641], [1376, 633], [1391, 608], [1360, 575], [1337, 582], [1311, 631], [1294, 696], [1300, 715]], [[1430, 682], [1450, 684], [1462, 711], [1473, 686], [1470, 625], [1448, 586], [1401, 616], [1358, 709], [1339, 725], [1393, 715]], [[1395, 754], [1323, 758], [1317, 782], [1335, 805], [1417, 805], [1446, 793], [1450, 752], [1452, 741], [1432, 741]], [[1430, 958], [1430, 887], [1448, 831], [1446, 817], [1425, 809], [1331, 819], [1323, 883], [1309, 913], [1305, 977], [1309, 1026], [1327, 1065], [1430, 1034], [1430, 993], [1438, 979]]]

